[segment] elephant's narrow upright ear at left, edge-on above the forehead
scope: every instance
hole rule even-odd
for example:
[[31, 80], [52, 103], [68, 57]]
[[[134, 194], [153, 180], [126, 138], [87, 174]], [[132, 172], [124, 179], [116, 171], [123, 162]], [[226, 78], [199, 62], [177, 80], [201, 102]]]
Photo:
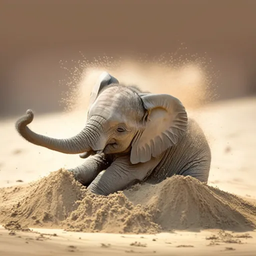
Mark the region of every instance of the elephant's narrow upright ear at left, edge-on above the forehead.
[[119, 81], [115, 77], [110, 75], [108, 72], [106, 72], [106, 71], [102, 72], [99, 75], [98, 80], [96, 81], [96, 83], [93, 86], [92, 91], [90, 93], [89, 108], [91, 107], [91, 105], [95, 101], [95, 99], [96, 99], [97, 95], [99, 94], [99, 92], [105, 86], [107, 86], [107, 85], [109, 85], [111, 83], [119, 83]]

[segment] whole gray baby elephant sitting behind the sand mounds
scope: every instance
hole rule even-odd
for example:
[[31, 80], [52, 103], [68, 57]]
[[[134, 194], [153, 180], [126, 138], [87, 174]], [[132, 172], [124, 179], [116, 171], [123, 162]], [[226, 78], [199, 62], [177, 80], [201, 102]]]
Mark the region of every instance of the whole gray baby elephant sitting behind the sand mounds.
[[85, 162], [69, 171], [93, 193], [108, 195], [136, 182], [157, 183], [174, 174], [207, 182], [209, 145], [177, 98], [141, 93], [103, 72], [90, 99], [85, 127], [71, 138], [31, 131], [27, 127], [33, 120], [31, 110], [17, 120], [16, 129], [33, 144], [80, 153]]

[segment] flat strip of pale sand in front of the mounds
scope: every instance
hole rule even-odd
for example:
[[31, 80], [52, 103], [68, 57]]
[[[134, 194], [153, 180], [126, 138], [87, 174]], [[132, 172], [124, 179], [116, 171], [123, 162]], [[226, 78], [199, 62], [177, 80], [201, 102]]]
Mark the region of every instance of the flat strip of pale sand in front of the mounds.
[[[0, 229], [0, 255], [255, 255], [253, 238], [239, 238], [241, 243], [219, 242], [209, 245], [216, 231], [159, 233], [156, 235], [120, 235], [65, 232], [59, 229], [34, 229], [43, 233], [8, 234]], [[53, 236], [53, 234], [55, 234]], [[132, 245], [138, 242], [140, 246]]]

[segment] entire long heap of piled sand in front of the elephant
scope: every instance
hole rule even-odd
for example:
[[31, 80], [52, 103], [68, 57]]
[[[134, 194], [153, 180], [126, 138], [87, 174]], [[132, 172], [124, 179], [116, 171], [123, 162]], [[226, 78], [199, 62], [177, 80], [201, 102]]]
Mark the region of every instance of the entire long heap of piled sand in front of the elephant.
[[[17, 190], [6, 189], [9, 194]], [[0, 203], [0, 223], [6, 227], [52, 226], [115, 233], [256, 227], [254, 205], [189, 176], [173, 176], [156, 185], [135, 185], [124, 192], [101, 196], [87, 191], [70, 172], [59, 169], [27, 186], [23, 196], [13, 199], [4, 191], [0, 191], [5, 198]]]

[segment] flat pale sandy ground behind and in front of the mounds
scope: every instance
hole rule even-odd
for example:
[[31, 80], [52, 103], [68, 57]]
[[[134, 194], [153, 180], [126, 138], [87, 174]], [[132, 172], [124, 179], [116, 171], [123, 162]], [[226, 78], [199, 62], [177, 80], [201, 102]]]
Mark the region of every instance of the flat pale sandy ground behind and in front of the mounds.
[[[245, 98], [188, 111], [201, 124], [210, 143], [212, 162], [209, 184], [242, 196], [252, 203], [256, 202], [255, 102], [255, 98]], [[75, 134], [84, 125], [85, 117], [80, 116], [80, 112], [44, 116], [37, 116], [35, 113], [30, 127], [38, 133], [66, 137]], [[14, 121], [6, 119], [0, 122], [0, 187], [23, 186], [48, 175], [50, 171], [71, 167], [82, 161], [78, 155], [65, 155], [26, 142], [14, 130]], [[1, 227], [0, 255], [69, 255], [72, 252], [77, 255], [256, 254], [255, 231], [248, 232], [252, 237], [242, 235], [243, 237], [239, 237], [240, 241], [236, 242], [226, 242], [223, 239], [215, 241], [214, 237], [207, 239], [219, 230], [174, 231], [156, 235], [78, 233], [61, 229], [33, 231], [45, 234], [17, 231], [11, 235]], [[53, 233], [56, 235], [49, 235]], [[130, 245], [135, 241], [146, 245]], [[212, 241], [214, 244], [207, 246]]]

